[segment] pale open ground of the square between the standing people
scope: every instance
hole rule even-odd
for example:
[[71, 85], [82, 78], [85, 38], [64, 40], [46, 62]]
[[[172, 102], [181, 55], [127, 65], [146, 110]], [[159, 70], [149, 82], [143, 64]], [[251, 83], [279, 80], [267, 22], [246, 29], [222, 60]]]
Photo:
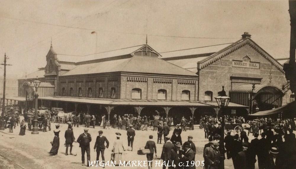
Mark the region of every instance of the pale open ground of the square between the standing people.
[[[79, 148], [78, 143], [73, 143], [73, 152], [74, 154], [77, 153], [77, 156], [74, 155], [65, 155], [64, 146], [65, 143], [65, 130], [67, 129], [66, 124], [61, 124], [60, 127], [60, 147], [59, 152], [55, 156], [50, 156], [48, 154], [49, 150], [51, 149], [50, 141], [53, 140], [54, 133], [53, 128], [55, 123], [52, 123], [52, 131], [42, 132], [39, 131], [38, 135], [32, 135], [30, 131], [26, 130], [25, 136], [19, 136], [20, 126], [17, 126], [14, 129], [14, 133], [9, 133], [8, 129], [5, 131], [0, 132], [0, 142], [4, 144], [0, 144], [0, 168], [32, 168], [32, 169], [55, 169], [55, 168], [86, 168], [81, 166], [81, 150]], [[83, 133], [84, 126], [79, 126], [78, 128], [75, 127], [73, 129], [75, 139]], [[114, 128], [110, 129], [103, 129], [99, 126], [96, 128], [89, 128], [89, 133], [92, 136], [91, 141], [91, 160], [96, 160], [96, 152], [94, 152], [94, 143], [96, 136], [98, 136], [98, 131], [102, 130], [104, 133], [103, 135], [107, 137], [110, 142], [110, 147], [105, 150], [105, 160], [110, 160], [111, 157], [111, 150], [113, 143], [116, 139], [115, 132], [122, 133], [121, 139], [123, 140], [124, 146], [127, 148], [127, 136], [126, 131], [118, 130]], [[170, 132], [169, 136], [172, 134]], [[148, 130], [148, 131], [136, 131], [135, 141], [133, 144], [134, 151], [126, 151], [123, 153], [123, 160], [126, 161], [133, 161], [133, 160], [147, 160], [146, 155], [138, 155], [137, 150], [140, 147], [144, 147], [146, 141], [149, 139], [149, 135], [153, 135], [153, 139], [157, 142], [157, 132]], [[182, 141], [187, 140], [187, 136], [192, 135], [194, 144], [197, 147], [197, 154], [195, 156], [195, 160], [199, 160], [200, 162], [203, 159], [203, 147], [205, 144], [208, 143], [208, 140], [204, 138], [203, 129], [195, 128], [193, 131], [183, 131], [181, 134]], [[253, 139], [250, 136], [250, 140]], [[162, 140], [163, 142], [163, 140]], [[161, 150], [163, 144], [157, 144], [157, 157], [154, 160], [160, 160]], [[73, 153], [72, 152], [72, 153]], [[9, 159], [9, 160], [8, 160]], [[101, 158], [100, 158], [101, 160]], [[91, 168], [101, 168], [101, 167], [91, 167]], [[106, 168], [116, 168], [116, 167], [108, 167]], [[122, 167], [117, 167], [122, 168]], [[127, 166], [125, 168], [147, 168], [147, 167], [130, 167]], [[154, 168], [161, 168], [161, 167], [154, 167]], [[197, 167], [202, 168], [202, 167]], [[232, 160], [225, 160], [225, 168], [233, 168]]]

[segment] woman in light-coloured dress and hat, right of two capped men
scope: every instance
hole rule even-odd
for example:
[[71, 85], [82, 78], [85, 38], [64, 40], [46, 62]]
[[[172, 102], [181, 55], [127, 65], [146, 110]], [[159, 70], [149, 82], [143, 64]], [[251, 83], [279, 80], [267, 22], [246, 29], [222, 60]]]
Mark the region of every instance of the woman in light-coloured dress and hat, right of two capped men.
[[114, 141], [114, 144], [113, 144], [112, 154], [114, 154], [114, 164], [118, 166], [120, 164], [120, 161], [123, 162], [122, 153], [123, 151], [126, 151], [126, 150], [124, 149], [122, 141], [120, 140], [121, 133], [115, 133], [115, 134], [116, 134], [116, 140]]

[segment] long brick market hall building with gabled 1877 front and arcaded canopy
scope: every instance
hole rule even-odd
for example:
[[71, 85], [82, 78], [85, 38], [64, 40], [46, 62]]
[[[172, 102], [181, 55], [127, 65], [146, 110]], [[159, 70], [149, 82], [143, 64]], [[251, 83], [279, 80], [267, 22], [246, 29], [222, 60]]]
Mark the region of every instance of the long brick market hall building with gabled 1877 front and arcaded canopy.
[[197, 120], [216, 115], [214, 97], [222, 86], [231, 97], [229, 114], [247, 115], [290, 102], [282, 65], [248, 33], [231, 44], [163, 53], [146, 43], [81, 57], [58, 54], [51, 46], [46, 62], [18, 80], [14, 100], [23, 102], [27, 95], [33, 105], [30, 81], [38, 76], [39, 105], [97, 116], [160, 112]]

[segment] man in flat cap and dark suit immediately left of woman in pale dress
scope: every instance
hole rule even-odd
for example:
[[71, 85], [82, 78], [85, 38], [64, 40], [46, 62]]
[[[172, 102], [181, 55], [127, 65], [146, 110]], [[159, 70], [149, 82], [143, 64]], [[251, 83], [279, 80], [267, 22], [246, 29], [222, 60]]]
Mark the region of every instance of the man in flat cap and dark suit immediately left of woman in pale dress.
[[[105, 146], [106, 142], [106, 146]], [[102, 163], [105, 163], [104, 151], [109, 147], [109, 141], [103, 136], [103, 131], [99, 131], [99, 136], [96, 137], [96, 143], [94, 144], [94, 151], [96, 151], [96, 161], [99, 161], [100, 153], [102, 154]], [[105, 165], [103, 165], [105, 168]]]

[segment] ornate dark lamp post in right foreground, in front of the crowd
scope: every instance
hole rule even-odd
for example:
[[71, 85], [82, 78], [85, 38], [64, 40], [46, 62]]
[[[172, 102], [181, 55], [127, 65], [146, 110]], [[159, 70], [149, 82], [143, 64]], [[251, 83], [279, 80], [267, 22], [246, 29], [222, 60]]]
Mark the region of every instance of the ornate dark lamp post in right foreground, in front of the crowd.
[[221, 166], [224, 168], [224, 159], [225, 159], [225, 153], [224, 153], [224, 126], [225, 126], [225, 117], [224, 117], [224, 110], [227, 108], [230, 97], [226, 96], [226, 92], [224, 91], [224, 86], [222, 86], [222, 91], [218, 92], [218, 97], [215, 97], [218, 106], [220, 108], [220, 112], [222, 115], [222, 133], [221, 133], [221, 144], [220, 144], [220, 157], [223, 159], [221, 161]]

